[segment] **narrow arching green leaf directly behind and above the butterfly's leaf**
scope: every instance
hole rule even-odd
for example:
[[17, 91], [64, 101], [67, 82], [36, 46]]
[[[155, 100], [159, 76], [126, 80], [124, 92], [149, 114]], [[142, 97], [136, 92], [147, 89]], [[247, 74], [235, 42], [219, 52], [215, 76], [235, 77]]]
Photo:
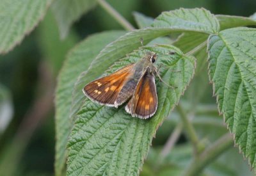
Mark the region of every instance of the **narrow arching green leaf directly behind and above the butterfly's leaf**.
[[[81, 90], [86, 83], [89, 83], [96, 77], [101, 76], [115, 61], [124, 58], [125, 54], [138, 49], [141, 46], [140, 38], [143, 38], [143, 44], [146, 45], [153, 39], [168, 35], [175, 32], [183, 31], [196, 31], [195, 28], [179, 29], [179, 28], [146, 28], [138, 29], [120, 36], [115, 42], [107, 45], [92, 61], [92, 64], [83, 72], [77, 80], [76, 86], [73, 91], [71, 116], [74, 119], [78, 109], [82, 105], [83, 97]], [[198, 31], [200, 32], [200, 31]], [[161, 40], [163, 42], [163, 40]]]

